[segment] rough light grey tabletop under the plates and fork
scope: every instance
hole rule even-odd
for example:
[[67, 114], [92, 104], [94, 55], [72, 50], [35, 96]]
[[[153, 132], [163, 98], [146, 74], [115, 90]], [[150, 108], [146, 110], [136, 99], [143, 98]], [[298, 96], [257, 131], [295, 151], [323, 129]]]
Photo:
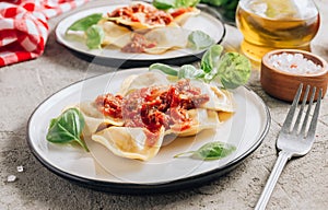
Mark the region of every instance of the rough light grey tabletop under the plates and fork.
[[[256, 69], [247, 85], [268, 105], [272, 116], [270, 130], [262, 144], [239, 166], [210, 184], [163, 195], [106, 194], [58, 177], [33, 156], [26, 143], [26, 124], [36, 106], [54, 92], [84, 79], [86, 73], [96, 75], [114, 70], [77, 58], [56, 42], [54, 33], [56, 24], [66, 15], [104, 2], [90, 2], [51, 19], [50, 35], [42, 57], [0, 69], [0, 209], [253, 209], [277, 160], [276, 138], [290, 106], [263, 92]], [[315, 2], [320, 10], [321, 26], [312, 48], [328, 60], [328, 0]], [[238, 47], [241, 39], [239, 32], [227, 26], [223, 45]], [[268, 209], [328, 207], [327, 98], [321, 106], [312, 151], [288, 163]], [[24, 172], [17, 173], [19, 165]], [[17, 179], [8, 183], [9, 175]]]

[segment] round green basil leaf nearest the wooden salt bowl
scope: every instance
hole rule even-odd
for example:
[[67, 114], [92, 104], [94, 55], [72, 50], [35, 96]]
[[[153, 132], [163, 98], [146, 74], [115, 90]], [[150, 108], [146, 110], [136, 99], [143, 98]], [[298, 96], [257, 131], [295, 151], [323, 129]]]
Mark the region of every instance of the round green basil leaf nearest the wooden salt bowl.
[[225, 89], [236, 89], [247, 83], [251, 63], [238, 52], [226, 52], [218, 65], [218, 77]]

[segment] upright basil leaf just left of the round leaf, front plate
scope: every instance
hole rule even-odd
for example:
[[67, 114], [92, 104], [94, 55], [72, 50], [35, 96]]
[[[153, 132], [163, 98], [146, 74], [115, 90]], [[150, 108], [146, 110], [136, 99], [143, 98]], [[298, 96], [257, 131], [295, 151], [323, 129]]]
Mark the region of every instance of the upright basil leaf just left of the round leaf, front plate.
[[209, 73], [214, 68], [216, 68], [216, 65], [220, 60], [222, 51], [223, 51], [223, 47], [221, 45], [211, 46], [201, 58], [201, 61], [200, 61], [201, 69], [204, 72]]

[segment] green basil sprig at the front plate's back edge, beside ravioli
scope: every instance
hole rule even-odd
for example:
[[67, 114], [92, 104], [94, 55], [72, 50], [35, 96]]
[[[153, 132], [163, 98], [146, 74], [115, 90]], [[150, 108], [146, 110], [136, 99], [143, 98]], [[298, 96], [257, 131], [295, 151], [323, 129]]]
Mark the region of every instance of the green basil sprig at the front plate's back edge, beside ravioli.
[[224, 52], [221, 45], [212, 45], [202, 56], [200, 69], [190, 65], [172, 68], [167, 65], [154, 63], [149, 70], [160, 70], [178, 79], [197, 79], [203, 82], [214, 81], [225, 89], [236, 89], [247, 83], [251, 72], [248, 58], [238, 52]]

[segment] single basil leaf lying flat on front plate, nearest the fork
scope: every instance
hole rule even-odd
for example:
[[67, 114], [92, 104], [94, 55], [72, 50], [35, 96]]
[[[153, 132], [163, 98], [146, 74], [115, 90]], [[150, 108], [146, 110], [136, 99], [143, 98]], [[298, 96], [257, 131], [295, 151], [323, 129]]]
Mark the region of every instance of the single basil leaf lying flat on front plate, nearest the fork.
[[223, 159], [231, 153], [233, 153], [236, 150], [236, 147], [229, 144], [229, 143], [223, 143], [220, 141], [213, 141], [206, 143], [201, 148], [199, 148], [196, 151], [189, 151], [189, 152], [184, 152], [176, 154], [174, 158], [180, 158], [186, 154], [191, 155], [194, 159], [200, 159], [204, 161], [211, 161], [211, 160], [219, 160]]

